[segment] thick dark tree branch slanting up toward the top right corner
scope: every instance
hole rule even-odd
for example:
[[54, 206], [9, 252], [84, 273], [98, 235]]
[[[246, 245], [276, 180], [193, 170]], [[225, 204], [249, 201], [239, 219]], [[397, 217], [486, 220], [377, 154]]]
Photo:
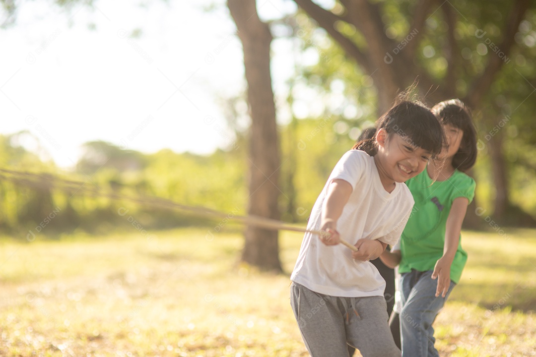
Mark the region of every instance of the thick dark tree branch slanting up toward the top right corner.
[[[465, 102], [468, 103], [472, 108], [478, 108], [483, 95], [492, 86], [496, 74], [501, 70], [505, 59], [508, 58], [508, 54], [510, 53], [514, 43], [513, 37], [517, 33], [519, 23], [525, 16], [528, 5], [529, 0], [518, 0], [515, 4], [513, 4], [513, 10], [510, 13], [510, 18], [507, 22], [506, 28], [503, 31], [503, 40], [501, 44], [497, 45], [497, 48], [503, 52], [504, 56], [501, 58], [497, 54], [489, 55], [490, 58], [486, 69], [482, 72], [480, 77], [473, 82], [473, 85], [464, 99]], [[483, 36], [485, 36], [485, 33], [483, 33]], [[488, 37], [486, 37], [486, 39], [488, 39]]]

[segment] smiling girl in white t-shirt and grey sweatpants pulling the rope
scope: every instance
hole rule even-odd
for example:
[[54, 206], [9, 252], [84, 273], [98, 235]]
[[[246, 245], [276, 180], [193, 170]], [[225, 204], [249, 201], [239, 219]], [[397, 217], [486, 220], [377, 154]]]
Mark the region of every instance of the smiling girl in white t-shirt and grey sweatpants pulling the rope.
[[[403, 101], [378, 120], [373, 139], [339, 160], [311, 211], [291, 276], [291, 305], [313, 357], [400, 356], [388, 326], [385, 281], [369, 260], [400, 238], [413, 207], [402, 184], [441, 153], [443, 129], [428, 108]], [[358, 248], [339, 244], [340, 239]]]

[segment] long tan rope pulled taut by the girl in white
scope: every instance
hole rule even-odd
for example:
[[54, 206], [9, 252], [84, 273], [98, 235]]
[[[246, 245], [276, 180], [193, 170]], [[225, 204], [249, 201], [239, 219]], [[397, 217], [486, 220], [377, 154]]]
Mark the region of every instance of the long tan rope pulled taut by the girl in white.
[[[172, 200], [160, 198], [157, 196], [143, 196], [138, 197], [127, 196], [118, 194], [114, 191], [104, 191], [98, 187], [88, 186], [87, 182], [68, 180], [64, 178], [55, 177], [53, 174], [49, 173], [31, 173], [23, 172], [9, 169], [0, 169], [0, 178], [7, 181], [12, 181], [16, 184], [41, 188], [41, 189], [61, 189], [62, 191], [72, 193], [72, 195], [88, 195], [92, 197], [107, 197], [114, 200], [125, 200], [141, 204], [144, 206], [151, 206], [154, 208], [165, 208], [165, 209], [178, 209], [186, 212], [190, 212], [193, 215], [202, 216], [202, 217], [217, 217], [217, 218], [229, 218], [228, 214], [217, 211], [214, 209], [200, 207], [200, 206], [189, 206], [187, 204], [181, 204], [174, 202]], [[96, 186], [96, 185], [95, 185]], [[308, 230], [303, 227], [296, 227], [290, 225], [286, 222], [277, 221], [276, 219], [270, 219], [265, 217], [259, 217], [254, 215], [248, 216], [233, 216], [234, 220], [239, 221], [243, 224], [255, 226], [259, 228], [264, 228], [268, 230], [281, 230], [281, 231], [294, 231], [302, 233], [312, 233], [318, 234], [319, 236], [325, 236], [325, 231], [317, 230]], [[349, 249], [352, 249], [354, 252], [358, 251], [358, 248], [349, 244], [346, 240], [340, 239], [341, 244], [345, 245]]]

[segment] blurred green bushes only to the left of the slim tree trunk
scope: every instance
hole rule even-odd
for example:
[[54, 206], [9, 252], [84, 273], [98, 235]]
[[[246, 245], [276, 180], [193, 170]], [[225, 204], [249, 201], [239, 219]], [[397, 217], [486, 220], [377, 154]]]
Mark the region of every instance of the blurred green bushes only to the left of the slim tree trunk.
[[[243, 214], [245, 155], [240, 146], [210, 156], [176, 154], [162, 150], [142, 154], [121, 150], [106, 142], [90, 142], [75, 172], [61, 172], [53, 164], [18, 145], [17, 136], [0, 136], [0, 167], [31, 173], [49, 172], [55, 177], [83, 183], [76, 192], [49, 189], [23, 180], [0, 181], [0, 230], [54, 236], [76, 229], [105, 232], [117, 226], [171, 227], [211, 225], [213, 219], [180, 211], [143, 207], [131, 200], [109, 198], [109, 193], [136, 198], [159, 196], [190, 206]], [[28, 168], [31, 168], [29, 170]], [[95, 189], [88, 195], [85, 188]], [[128, 211], [128, 215], [124, 216]]]

